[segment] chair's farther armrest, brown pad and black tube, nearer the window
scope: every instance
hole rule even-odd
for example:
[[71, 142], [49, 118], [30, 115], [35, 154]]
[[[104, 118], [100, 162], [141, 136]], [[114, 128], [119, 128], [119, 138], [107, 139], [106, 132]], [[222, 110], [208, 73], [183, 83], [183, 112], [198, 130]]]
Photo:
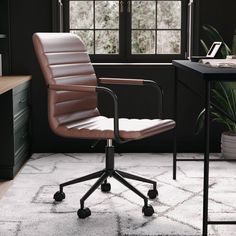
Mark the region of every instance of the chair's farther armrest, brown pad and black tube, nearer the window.
[[163, 89], [154, 80], [144, 80], [144, 79], [125, 79], [125, 78], [99, 78], [98, 82], [101, 84], [119, 84], [119, 85], [141, 85], [141, 86], [153, 86], [158, 90], [161, 97], [160, 99], [160, 112], [158, 116], [162, 118], [163, 113]]

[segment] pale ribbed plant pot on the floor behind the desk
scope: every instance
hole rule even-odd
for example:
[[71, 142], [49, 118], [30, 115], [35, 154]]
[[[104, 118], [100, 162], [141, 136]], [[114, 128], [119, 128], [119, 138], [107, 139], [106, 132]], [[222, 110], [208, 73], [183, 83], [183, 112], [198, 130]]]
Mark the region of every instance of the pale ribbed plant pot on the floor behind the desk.
[[222, 133], [221, 155], [225, 159], [236, 159], [236, 134], [230, 132]]

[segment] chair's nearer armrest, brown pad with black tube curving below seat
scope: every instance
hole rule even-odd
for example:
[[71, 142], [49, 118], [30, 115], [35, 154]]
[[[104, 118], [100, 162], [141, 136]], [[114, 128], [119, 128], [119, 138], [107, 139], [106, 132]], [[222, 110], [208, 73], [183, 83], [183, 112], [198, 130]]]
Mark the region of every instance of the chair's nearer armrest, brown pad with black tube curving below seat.
[[75, 91], [75, 92], [105, 92], [111, 95], [114, 104], [114, 136], [118, 143], [126, 142], [119, 135], [119, 115], [118, 115], [118, 99], [116, 94], [109, 88], [102, 86], [87, 86], [87, 85], [48, 85], [48, 89], [57, 91]]

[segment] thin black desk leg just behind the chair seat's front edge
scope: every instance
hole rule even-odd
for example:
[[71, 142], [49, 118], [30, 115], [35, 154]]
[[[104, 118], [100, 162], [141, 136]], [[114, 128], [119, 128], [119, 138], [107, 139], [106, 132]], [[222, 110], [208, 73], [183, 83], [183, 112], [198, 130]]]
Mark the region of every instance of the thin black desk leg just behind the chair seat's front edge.
[[175, 128], [173, 131], [173, 179], [176, 179], [177, 162], [177, 105], [178, 105], [178, 70], [175, 67], [175, 86], [174, 86], [174, 120]]

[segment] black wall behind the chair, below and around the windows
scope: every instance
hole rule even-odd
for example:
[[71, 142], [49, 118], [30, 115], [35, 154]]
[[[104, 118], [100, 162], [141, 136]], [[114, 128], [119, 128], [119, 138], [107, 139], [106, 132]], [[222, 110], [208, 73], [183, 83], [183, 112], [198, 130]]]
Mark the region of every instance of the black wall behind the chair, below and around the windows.
[[[6, 0], [1, 0], [6, 1]], [[199, 22], [196, 24], [200, 31], [201, 24], [212, 24], [219, 29], [226, 42], [231, 44], [235, 21], [235, 0], [201, 0]], [[214, 7], [213, 7], [214, 6]], [[214, 10], [213, 10], [214, 9]], [[3, 11], [3, 9], [0, 9]], [[5, 10], [4, 10], [5, 12]], [[87, 152], [91, 151], [92, 141], [71, 140], [54, 135], [47, 123], [47, 91], [43, 77], [36, 61], [32, 34], [34, 32], [52, 31], [52, 6], [49, 0], [40, 1], [10, 1], [10, 55], [11, 69], [8, 74], [31, 74], [32, 80], [32, 152]], [[0, 32], [1, 33], [1, 32]], [[198, 40], [197, 40], [198, 41]], [[1, 44], [1, 42], [0, 42]], [[0, 48], [1, 49], [1, 48]], [[165, 91], [164, 114], [173, 117], [173, 88], [174, 70], [172, 66], [96, 66], [98, 76], [121, 76], [153, 79], [160, 83]], [[188, 75], [183, 75], [188, 77]], [[201, 90], [200, 83], [195, 82], [195, 88]], [[150, 89], [118, 87], [117, 93], [121, 103], [121, 115], [126, 117], [154, 118], [156, 109], [156, 94]], [[133, 95], [134, 94], [134, 95]], [[179, 135], [178, 147], [183, 152], [203, 151], [203, 135], [193, 135], [195, 118], [201, 110], [202, 102], [189, 91], [180, 88], [179, 104]], [[101, 111], [111, 114], [111, 104], [108, 98], [100, 96], [104, 103]], [[222, 127], [213, 125], [211, 147], [219, 151], [219, 140]], [[171, 152], [172, 136], [170, 133], [148, 138], [138, 142], [130, 142], [118, 147], [120, 152]], [[92, 151], [103, 151], [104, 142]]]

